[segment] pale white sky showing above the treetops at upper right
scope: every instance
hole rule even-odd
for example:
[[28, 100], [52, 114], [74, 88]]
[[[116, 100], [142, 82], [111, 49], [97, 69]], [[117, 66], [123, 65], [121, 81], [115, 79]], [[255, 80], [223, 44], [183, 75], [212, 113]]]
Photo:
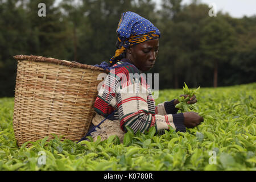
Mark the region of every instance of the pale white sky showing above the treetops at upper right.
[[[160, 0], [153, 0], [160, 5]], [[199, 2], [209, 5], [215, 3], [216, 10], [222, 13], [229, 13], [234, 18], [242, 18], [244, 15], [256, 15], [256, 0], [199, 0]], [[191, 0], [183, 0], [182, 4], [190, 4]], [[210, 9], [210, 8], [209, 8]]]

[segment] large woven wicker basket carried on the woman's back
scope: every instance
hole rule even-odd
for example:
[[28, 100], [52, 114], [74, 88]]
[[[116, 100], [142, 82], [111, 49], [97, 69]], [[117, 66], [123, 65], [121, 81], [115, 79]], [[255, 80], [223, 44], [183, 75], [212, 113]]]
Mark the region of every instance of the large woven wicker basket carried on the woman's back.
[[77, 141], [94, 117], [97, 80], [104, 69], [42, 56], [18, 60], [13, 127], [18, 145], [51, 134]]

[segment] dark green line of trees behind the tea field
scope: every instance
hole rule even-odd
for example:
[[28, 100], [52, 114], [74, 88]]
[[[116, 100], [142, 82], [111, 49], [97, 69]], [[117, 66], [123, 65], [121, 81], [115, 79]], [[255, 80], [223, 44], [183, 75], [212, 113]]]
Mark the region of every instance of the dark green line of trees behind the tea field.
[[[39, 3], [46, 16], [38, 15]], [[228, 86], [256, 81], [256, 16], [233, 18], [208, 5], [162, 0], [0, 0], [0, 97], [13, 97], [14, 55], [84, 64], [108, 62], [121, 14], [133, 11], [159, 28], [159, 55], [150, 73], [159, 88]]]

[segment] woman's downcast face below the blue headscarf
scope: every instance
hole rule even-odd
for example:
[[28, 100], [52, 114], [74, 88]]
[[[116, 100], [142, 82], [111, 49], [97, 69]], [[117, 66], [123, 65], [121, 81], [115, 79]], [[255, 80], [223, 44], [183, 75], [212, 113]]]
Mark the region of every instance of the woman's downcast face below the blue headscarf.
[[127, 49], [126, 58], [142, 72], [154, 67], [158, 55], [159, 39], [147, 40]]

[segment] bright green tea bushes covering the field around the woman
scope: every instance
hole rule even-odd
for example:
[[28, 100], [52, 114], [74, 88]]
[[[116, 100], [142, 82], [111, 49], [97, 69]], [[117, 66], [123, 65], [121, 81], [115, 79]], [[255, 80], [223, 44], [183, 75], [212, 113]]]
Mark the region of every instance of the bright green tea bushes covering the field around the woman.
[[[189, 86], [189, 85], [188, 85]], [[160, 90], [156, 104], [183, 90]], [[125, 141], [47, 138], [18, 147], [13, 131], [14, 98], [0, 98], [0, 170], [255, 170], [256, 83], [200, 88], [197, 107], [210, 116], [187, 133], [132, 131]], [[42, 158], [44, 154], [45, 158]]]

